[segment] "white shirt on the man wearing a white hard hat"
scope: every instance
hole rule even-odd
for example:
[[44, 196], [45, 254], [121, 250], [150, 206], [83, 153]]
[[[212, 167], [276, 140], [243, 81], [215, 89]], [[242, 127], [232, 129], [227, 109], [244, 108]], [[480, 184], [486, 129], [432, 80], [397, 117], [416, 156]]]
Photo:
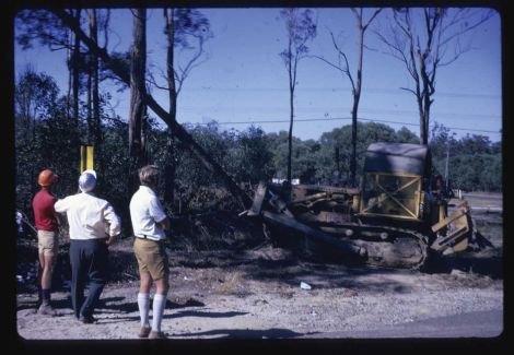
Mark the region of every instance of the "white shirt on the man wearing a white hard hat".
[[105, 200], [91, 192], [81, 192], [58, 200], [54, 205], [58, 213], [66, 213], [70, 226], [70, 239], [100, 239], [116, 236], [121, 230], [118, 215]]

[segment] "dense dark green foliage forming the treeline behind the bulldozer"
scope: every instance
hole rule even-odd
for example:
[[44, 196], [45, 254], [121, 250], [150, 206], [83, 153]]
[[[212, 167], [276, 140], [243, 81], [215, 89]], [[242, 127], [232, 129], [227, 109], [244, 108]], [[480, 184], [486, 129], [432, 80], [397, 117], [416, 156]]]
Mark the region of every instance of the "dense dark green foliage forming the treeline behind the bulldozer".
[[[108, 96], [102, 97], [108, 106]], [[33, 71], [19, 78], [15, 91], [15, 163], [16, 209], [32, 215], [32, 198], [37, 192], [37, 175], [44, 168], [60, 177], [55, 188], [58, 198], [78, 191], [79, 146], [86, 133], [85, 119], [67, 118], [66, 97], [59, 96], [54, 80]], [[119, 117], [102, 111], [101, 142], [95, 146], [95, 169], [98, 171], [98, 196], [110, 201], [128, 221], [128, 125]], [[81, 117], [85, 117], [85, 109]], [[255, 186], [259, 180], [284, 178], [287, 175], [288, 133], [265, 133], [258, 127], [244, 131], [223, 130], [217, 122], [186, 127], [194, 139], [238, 184]], [[351, 127], [324, 133], [319, 140], [293, 140], [292, 176], [302, 184], [344, 185], [349, 177]], [[358, 178], [362, 175], [363, 156], [372, 142], [419, 142], [406, 128], [375, 122], [358, 125]], [[206, 189], [222, 187], [198, 159], [177, 141], [176, 201], [168, 201], [174, 212], [201, 208], [197, 197]], [[434, 168], [444, 176], [446, 151], [449, 147], [449, 176], [454, 188], [464, 190], [502, 190], [502, 152], [500, 143], [482, 135], [460, 140], [442, 126], [432, 132], [431, 149]], [[149, 120], [149, 162], [163, 165], [166, 132], [154, 119]], [[338, 154], [336, 153], [338, 151]], [[336, 159], [338, 157], [338, 159]], [[339, 167], [339, 168], [338, 168]], [[337, 178], [337, 177], [340, 178]], [[217, 199], [218, 196], [207, 196]], [[213, 202], [213, 201], [209, 201]], [[207, 204], [206, 204], [207, 205]], [[125, 224], [128, 225], [127, 223]]]

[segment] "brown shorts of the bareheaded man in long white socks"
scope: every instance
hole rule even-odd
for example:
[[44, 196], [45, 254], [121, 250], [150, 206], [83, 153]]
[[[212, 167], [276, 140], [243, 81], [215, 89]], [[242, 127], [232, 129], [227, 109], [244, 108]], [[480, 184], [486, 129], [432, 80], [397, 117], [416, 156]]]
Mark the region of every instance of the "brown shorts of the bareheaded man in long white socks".
[[149, 272], [153, 280], [167, 279], [170, 267], [163, 241], [136, 237], [133, 253], [138, 259], [140, 274]]

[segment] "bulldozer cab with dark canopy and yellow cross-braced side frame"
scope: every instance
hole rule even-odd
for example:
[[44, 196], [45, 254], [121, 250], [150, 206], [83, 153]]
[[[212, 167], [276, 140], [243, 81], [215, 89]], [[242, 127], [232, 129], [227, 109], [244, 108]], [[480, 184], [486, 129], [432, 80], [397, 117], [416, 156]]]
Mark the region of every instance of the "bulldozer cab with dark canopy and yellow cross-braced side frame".
[[359, 215], [422, 221], [430, 167], [427, 145], [371, 144], [365, 154]]

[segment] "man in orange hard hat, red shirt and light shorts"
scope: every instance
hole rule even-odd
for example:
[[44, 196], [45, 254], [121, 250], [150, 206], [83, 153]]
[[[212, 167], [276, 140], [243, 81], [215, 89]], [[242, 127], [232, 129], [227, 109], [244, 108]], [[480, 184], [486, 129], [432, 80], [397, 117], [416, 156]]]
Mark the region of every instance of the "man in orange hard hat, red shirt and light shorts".
[[39, 173], [37, 184], [42, 187], [32, 201], [34, 220], [37, 229], [37, 249], [39, 255], [39, 272], [37, 284], [39, 288], [39, 315], [55, 316], [50, 304], [52, 268], [59, 251], [57, 236], [57, 213], [54, 204], [57, 199], [51, 194], [51, 186], [57, 182], [58, 176], [50, 169]]

